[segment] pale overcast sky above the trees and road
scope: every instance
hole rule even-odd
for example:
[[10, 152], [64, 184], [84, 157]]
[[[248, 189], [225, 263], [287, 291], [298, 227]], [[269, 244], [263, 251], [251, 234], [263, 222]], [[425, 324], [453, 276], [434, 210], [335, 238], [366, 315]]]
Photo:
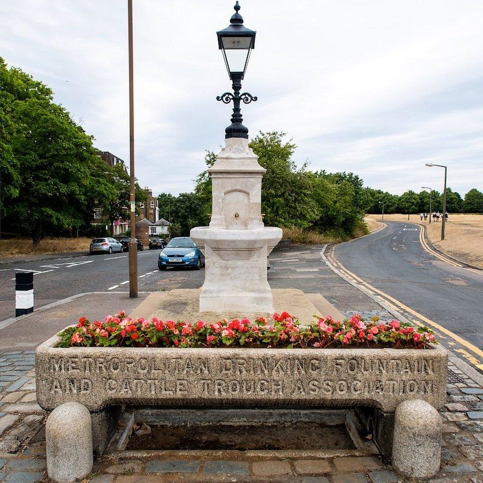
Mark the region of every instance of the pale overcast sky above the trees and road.
[[[231, 87], [217, 30], [234, 0], [134, 0], [136, 175], [191, 191], [219, 151]], [[483, 188], [481, 0], [241, 0], [257, 31], [242, 90], [250, 136], [284, 131], [297, 164], [392, 193]], [[1, 51], [129, 164], [127, 1], [3, 0]]]

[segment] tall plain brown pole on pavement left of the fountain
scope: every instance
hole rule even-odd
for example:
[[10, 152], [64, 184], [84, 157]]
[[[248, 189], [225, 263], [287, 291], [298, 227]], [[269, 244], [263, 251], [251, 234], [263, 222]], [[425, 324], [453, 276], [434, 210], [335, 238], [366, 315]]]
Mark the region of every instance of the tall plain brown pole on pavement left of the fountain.
[[129, 241], [129, 296], [138, 297], [138, 243], [136, 242], [136, 184], [134, 177], [134, 68], [133, 68], [133, 0], [128, 0], [129, 43], [129, 177], [131, 240]]

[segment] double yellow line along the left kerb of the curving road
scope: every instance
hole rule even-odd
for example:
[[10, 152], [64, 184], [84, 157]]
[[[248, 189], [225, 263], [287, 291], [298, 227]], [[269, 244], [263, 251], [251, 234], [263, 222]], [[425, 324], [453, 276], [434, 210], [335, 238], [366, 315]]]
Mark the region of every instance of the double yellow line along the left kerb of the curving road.
[[[331, 252], [329, 254], [329, 257], [326, 258], [331, 265], [333, 265], [334, 268], [337, 267], [338, 271], [342, 273], [345, 277], [351, 279], [355, 283], [359, 283], [365, 288], [366, 290], [369, 290], [373, 294], [379, 294], [379, 297], [383, 302], [385, 302], [387, 305], [389, 305], [391, 308], [396, 309], [401, 308], [408, 312], [409, 314], [412, 314], [413, 316], [417, 317], [419, 320], [423, 321], [425, 325], [432, 327], [433, 329], [436, 329], [437, 331], [446, 334], [448, 337], [452, 338], [453, 340], [456, 340], [459, 342], [461, 345], [466, 347], [467, 349], [471, 350], [475, 354], [477, 354], [480, 357], [483, 357], [483, 350], [478, 348], [476, 345], [473, 345], [471, 342], [468, 342], [467, 340], [461, 338], [457, 334], [454, 334], [453, 332], [449, 331], [448, 329], [444, 328], [443, 326], [437, 324], [435, 321], [428, 319], [428, 317], [425, 317], [424, 315], [420, 314], [419, 312], [416, 312], [416, 310], [413, 310], [412, 308], [408, 307], [407, 305], [404, 305], [402, 302], [399, 300], [395, 299], [394, 297], [391, 297], [389, 294], [383, 292], [382, 290], [376, 289], [376, 287], [373, 287], [372, 285], [368, 284], [361, 278], [359, 278], [356, 274], [352, 273], [350, 270], [345, 268], [339, 261], [335, 260], [334, 257], [334, 247], [332, 247]], [[413, 322], [415, 322], [418, 325], [423, 325], [419, 323], [417, 320], [413, 319]], [[477, 360], [477, 364], [474, 364], [476, 367], [479, 369], [483, 370], [483, 364], [480, 364], [479, 361]]]

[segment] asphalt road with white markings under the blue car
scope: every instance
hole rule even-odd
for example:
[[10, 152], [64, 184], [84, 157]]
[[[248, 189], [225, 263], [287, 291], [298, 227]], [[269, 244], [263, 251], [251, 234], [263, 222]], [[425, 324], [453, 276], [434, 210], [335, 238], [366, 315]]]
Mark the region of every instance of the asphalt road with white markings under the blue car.
[[[157, 267], [160, 250], [138, 252], [138, 290], [155, 291], [199, 288], [204, 268], [199, 271]], [[96, 254], [0, 266], [0, 320], [15, 316], [15, 273], [34, 271], [34, 304], [41, 307], [63, 298], [92, 291], [129, 290], [128, 253]]]

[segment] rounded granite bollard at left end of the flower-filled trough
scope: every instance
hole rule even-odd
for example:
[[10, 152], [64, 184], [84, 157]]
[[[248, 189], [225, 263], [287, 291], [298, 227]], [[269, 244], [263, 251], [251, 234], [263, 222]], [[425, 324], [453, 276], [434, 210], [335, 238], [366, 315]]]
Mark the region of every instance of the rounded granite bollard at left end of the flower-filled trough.
[[46, 423], [47, 474], [57, 483], [83, 480], [92, 471], [92, 418], [78, 402], [57, 406]]

